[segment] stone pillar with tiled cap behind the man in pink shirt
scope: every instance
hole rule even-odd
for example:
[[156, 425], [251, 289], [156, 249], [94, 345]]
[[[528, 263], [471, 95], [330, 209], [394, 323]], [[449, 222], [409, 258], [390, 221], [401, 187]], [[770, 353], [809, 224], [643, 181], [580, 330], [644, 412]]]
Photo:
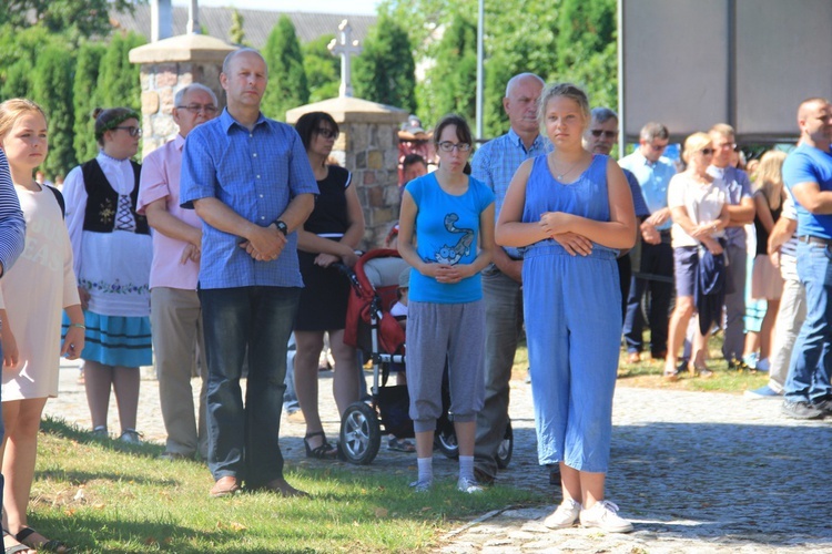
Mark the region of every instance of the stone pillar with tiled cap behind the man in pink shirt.
[[142, 65], [142, 157], [176, 136], [172, 111], [180, 89], [202, 83], [214, 91], [220, 107], [225, 105], [220, 72], [236, 48], [214, 37], [181, 34], [130, 51], [130, 62]]

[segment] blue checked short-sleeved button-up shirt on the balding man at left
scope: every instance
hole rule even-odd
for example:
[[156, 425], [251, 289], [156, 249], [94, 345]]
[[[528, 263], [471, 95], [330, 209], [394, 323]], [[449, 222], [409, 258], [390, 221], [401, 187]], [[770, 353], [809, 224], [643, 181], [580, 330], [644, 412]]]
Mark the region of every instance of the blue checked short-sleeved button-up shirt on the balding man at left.
[[[298, 194], [318, 194], [301, 136], [291, 125], [260, 115], [252, 131], [227, 110], [187, 134], [182, 158], [180, 202], [216, 198], [237, 215], [271, 225]], [[255, 261], [241, 237], [202, 225], [200, 288], [251, 286], [303, 287], [297, 265], [297, 234], [280, 257]]]

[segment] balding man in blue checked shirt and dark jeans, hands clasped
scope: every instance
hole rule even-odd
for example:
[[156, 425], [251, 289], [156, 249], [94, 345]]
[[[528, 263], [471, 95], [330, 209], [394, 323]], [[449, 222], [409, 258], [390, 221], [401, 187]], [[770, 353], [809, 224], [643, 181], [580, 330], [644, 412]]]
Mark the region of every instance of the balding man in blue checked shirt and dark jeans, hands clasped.
[[295, 229], [312, 213], [317, 183], [295, 130], [260, 112], [268, 82], [263, 57], [247, 48], [230, 53], [220, 82], [226, 109], [187, 135], [180, 199], [204, 222], [199, 295], [211, 495], [234, 494], [243, 483], [306, 495], [283, 479], [277, 438], [286, 345], [303, 287]]

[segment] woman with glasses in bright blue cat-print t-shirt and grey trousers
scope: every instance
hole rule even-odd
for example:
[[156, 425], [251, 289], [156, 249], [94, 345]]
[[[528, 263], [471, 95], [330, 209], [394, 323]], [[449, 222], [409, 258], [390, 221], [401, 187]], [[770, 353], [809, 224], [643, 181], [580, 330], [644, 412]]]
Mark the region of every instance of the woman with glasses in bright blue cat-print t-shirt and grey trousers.
[[473, 137], [466, 121], [446, 115], [434, 131], [436, 172], [408, 183], [402, 198], [398, 252], [410, 271], [407, 390], [416, 431], [418, 479], [433, 484], [433, 444], [448, 362], [450, 410], [459, 443], [457, 488], [481, 491], [474, 479], [474, 437], [485, 397], [485, 306], [479, 273], [494, 248], [494, 193], [469, 177]]

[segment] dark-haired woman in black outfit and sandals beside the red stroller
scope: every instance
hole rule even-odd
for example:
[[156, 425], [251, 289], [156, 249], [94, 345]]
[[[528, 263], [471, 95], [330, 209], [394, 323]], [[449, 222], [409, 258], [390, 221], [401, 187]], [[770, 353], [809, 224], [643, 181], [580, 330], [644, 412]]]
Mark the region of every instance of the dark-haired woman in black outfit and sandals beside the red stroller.
[[333, 394], [341, 414], [359, 399], [361, 368], [355, 348], [344, 343], [349, 283], [329, 266], [343, 263], [352, 267], [357, 261], [355, 249], [364, 237], [364, 212], [352, 174], [327, 164], [338, 137], [338, 125], [332, 115], [304, 114], [295, 129], [306, 147], [321, 191], [315, 209], [297, 232], [297, 258], [304, 288], [295, 319], [295, 391], [306, 420], [306, 456], [333, 460], [338, 450], [326, 440], [317, 406], [318, 359], [324, 332], [329, 335], [335, 360]]

